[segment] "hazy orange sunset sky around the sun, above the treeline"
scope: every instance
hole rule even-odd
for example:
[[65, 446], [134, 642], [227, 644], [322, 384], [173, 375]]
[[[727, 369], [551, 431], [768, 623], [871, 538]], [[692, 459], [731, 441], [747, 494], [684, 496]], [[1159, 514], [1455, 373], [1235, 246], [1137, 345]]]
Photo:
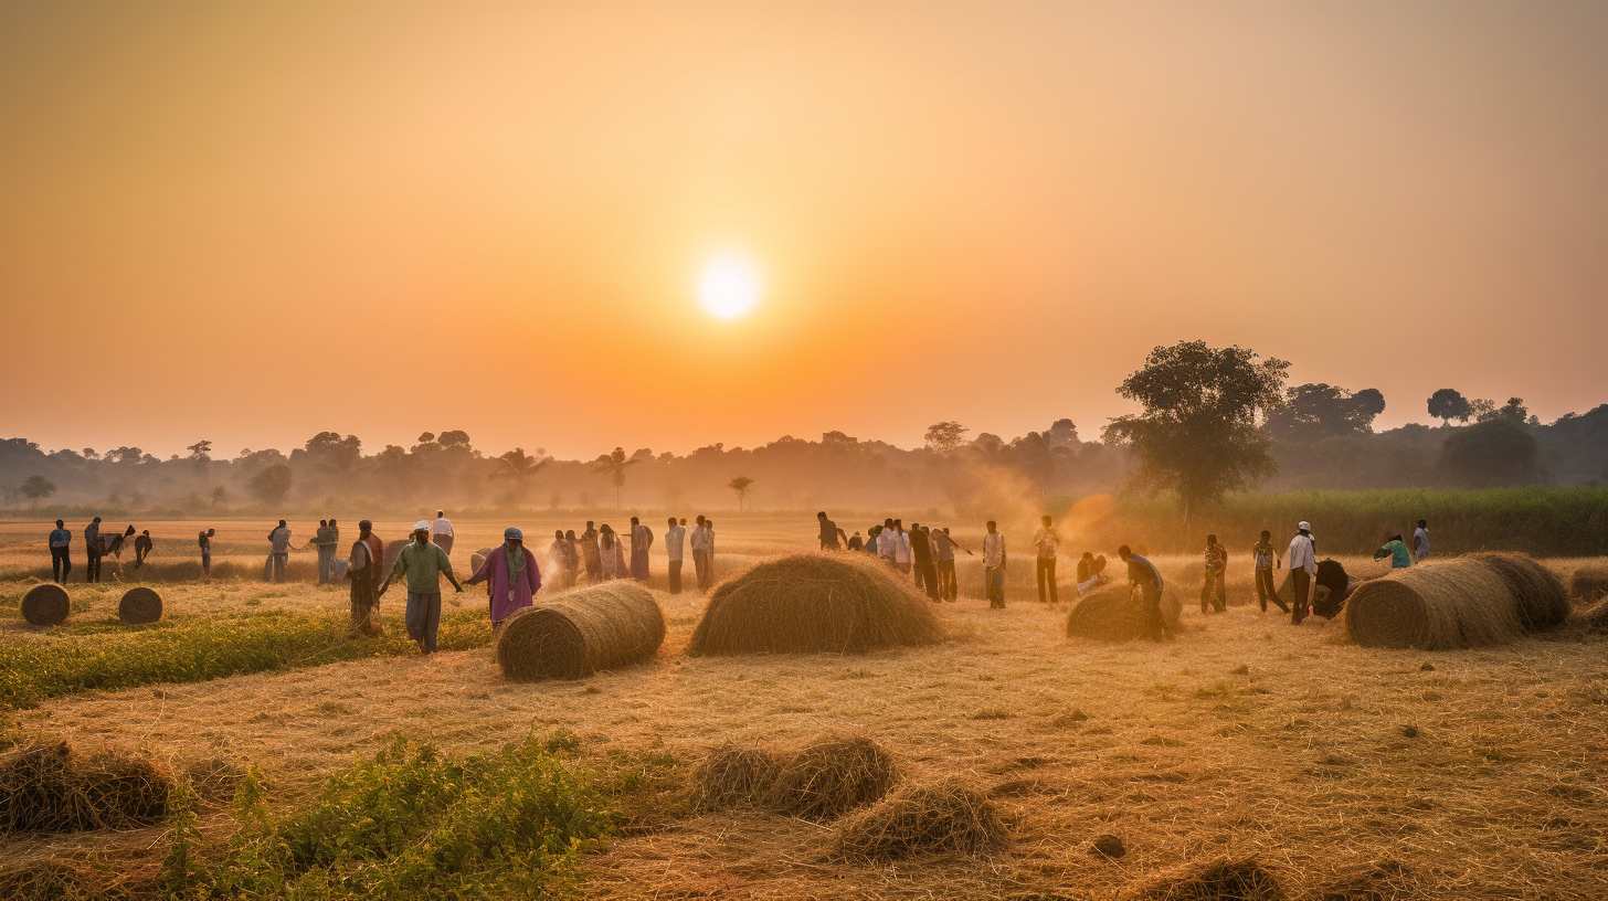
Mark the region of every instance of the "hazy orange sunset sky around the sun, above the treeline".
[[1598, 2], [3, 3], [0, 434], [1092, 434], [1183, 338], [1552, 418], [1608, 399], [1603, 47]]

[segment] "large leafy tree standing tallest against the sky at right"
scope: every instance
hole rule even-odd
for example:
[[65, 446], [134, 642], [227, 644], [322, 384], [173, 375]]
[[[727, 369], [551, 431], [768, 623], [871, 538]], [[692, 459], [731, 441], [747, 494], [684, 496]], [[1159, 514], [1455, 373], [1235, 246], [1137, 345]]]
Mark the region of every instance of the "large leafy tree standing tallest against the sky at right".
[[1280, 404], [1288, 372], [1240, 346], [1156, 348], [1118, 386], [1142, 412], [1111, 420], [1105, 439], [1134, 449], [1142, 484], [1177, 492], [1187, 525], [1192, 510], [1274, 471], [1257, 415]]

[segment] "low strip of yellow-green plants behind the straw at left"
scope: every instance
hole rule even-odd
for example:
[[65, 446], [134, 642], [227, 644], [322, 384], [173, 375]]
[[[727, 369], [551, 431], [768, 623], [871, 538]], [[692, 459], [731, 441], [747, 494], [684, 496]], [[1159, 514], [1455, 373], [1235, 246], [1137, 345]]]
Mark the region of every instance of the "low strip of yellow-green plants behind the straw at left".
[[[243, 673], [318, 666], [365, 656], [418, 653], [400, 618], [386, 634], [347, 639], [339, 616], [260, 613], [172, 619], [143, 629], [101, 631], [96, 624], [0, 642], [0, 708], [92, 689], [154, 682], [201, 682]], [[96, 634], [98, 632], [98, 634]], [[484, 613], [441, 619], [441, 650], [490, 642]]]

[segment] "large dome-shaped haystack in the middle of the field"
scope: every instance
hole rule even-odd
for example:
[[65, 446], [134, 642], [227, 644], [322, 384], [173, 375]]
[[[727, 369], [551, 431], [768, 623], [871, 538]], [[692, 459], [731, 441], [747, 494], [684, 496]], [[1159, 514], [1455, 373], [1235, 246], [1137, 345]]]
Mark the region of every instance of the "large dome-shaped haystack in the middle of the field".
[[687, 653], [862, 653], [942, 637], [926, 599], [880, 563], [798, 553], [720, 582]]

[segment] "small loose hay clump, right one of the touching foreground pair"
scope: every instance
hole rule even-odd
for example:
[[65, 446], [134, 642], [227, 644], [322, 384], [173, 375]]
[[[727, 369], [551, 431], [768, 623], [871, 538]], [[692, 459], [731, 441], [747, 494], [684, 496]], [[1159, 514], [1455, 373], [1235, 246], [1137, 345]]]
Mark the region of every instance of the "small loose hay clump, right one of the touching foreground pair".
[[880, 800], [899, 780], [899, 767], [870, 738], [823, 738], [781, 763], [767, 806], [822, 822]]

